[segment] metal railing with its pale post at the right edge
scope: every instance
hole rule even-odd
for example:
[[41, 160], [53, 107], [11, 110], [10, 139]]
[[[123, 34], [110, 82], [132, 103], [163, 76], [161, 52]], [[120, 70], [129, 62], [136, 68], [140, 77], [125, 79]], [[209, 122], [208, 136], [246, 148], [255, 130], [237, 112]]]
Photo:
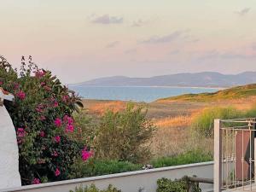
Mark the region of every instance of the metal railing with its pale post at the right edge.
[[214, 192], [256, 191], [256, 119], [214, 120]]

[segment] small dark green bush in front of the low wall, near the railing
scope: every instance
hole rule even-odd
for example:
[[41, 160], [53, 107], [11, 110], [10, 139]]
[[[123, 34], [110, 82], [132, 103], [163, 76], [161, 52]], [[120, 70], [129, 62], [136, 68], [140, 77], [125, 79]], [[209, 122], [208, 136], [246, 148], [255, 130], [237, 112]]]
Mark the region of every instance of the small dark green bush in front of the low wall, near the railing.
[[157, 180], [157, 185], [156, 192], [201, 192], [197, 184], [189, 182], [189, 177], [183, 177], [174, 181], [161, 178]]

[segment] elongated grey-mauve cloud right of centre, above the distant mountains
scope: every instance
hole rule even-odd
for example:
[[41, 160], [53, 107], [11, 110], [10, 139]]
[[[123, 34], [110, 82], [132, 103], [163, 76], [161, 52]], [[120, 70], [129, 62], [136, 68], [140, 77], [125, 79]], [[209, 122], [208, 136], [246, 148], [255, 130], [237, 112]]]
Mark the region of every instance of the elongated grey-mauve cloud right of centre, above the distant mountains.
[[188, 31], [176, 31], [176, 32], [172, 32], [171, 34], [162, 36], [162, 37], [153, 36], [148, 39], [138, 41], [138, 43], [140, 43], [140, 44], [166, 44], [166, 43], [173, 42], [179, 38], [183, 38], [183, 35], [187, 32]]

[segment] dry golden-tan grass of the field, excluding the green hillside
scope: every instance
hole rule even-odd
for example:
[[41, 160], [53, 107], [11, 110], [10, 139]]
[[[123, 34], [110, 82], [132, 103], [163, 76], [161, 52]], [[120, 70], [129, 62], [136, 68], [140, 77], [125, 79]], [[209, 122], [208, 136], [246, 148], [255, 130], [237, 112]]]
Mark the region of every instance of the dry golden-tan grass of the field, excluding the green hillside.
[[[213, 151], [211, 138], [192, 136], [190, 125], [197, 115], [205, 108], [233, 107], [247, 110], [255, 107], [256, 96], [241, 99], [230, 99], [216, 102], [174, 102], [159, 101], [148, 103], [148, 118], [154, 120], [158, 129], [152, 139], [152, 152], [155, 157], [181, 154], [193, 148]], [[90, 113], [102, 115], [106, 110], [118, 112], [124, 110], [127, 102], [120, 101], [84, 101]]]

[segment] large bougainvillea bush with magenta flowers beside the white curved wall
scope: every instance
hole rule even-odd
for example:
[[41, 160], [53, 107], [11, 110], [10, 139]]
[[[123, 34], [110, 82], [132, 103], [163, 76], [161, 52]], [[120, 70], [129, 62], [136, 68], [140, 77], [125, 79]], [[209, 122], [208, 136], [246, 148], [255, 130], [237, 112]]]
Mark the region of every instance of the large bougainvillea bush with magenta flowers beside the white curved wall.
[[0, 86], [15, 95], [5, 103], [13, 119], [20, 153], [23, 184], [68, 178], [78, 158], [90, 158], [85, 143], [73, 141], [72, 113], [82, 107], [79, 96], [63, 86], [49, 71], [22, 57], [19, 73], [0, 58]]

